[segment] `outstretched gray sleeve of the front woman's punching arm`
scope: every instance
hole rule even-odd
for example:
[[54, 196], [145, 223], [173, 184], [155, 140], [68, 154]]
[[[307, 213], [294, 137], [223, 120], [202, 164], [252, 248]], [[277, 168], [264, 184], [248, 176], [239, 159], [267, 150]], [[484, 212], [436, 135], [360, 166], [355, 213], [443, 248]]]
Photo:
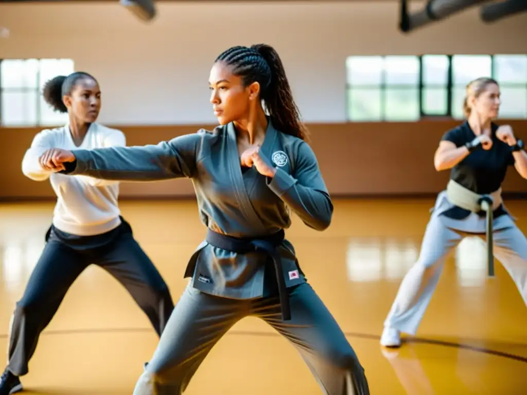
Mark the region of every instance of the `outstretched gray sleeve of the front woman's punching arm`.
[[89, 175], [102, 180], [157, 181], [192, 177], [201, 140], [187, 134], [157, 145], [73, 150], [73, 162], [61, 173]]

